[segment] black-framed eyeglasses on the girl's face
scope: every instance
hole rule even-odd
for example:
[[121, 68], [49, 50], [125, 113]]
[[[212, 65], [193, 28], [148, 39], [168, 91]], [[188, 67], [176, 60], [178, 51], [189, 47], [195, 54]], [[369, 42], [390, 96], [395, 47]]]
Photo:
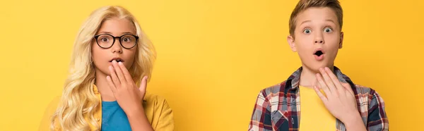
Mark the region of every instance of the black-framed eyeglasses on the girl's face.
[[119, 44], [125, 49], [131, 49], [137, 45], [139, 37], [136, 35], [122, 35], [120, 37], [114, 37], [110, 34], [95, 35], [95, 42], [103, 49], [108, 49], [113, 46], [115, 39], [119, 38]]

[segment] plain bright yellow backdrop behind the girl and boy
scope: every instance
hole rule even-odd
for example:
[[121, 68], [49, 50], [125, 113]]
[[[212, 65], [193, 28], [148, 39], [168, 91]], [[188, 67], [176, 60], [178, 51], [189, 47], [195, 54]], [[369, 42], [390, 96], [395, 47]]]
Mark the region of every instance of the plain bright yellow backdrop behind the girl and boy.
[[[37, 130], [61, 94], [78, 28], [120, 5], [158, 51], [148, 91], [175, 111], [176, 130], [247, 130], [257, 94], [299, 66], [285, 40], [290, 0], [1, 1], [0, 130]], [[391, 130], [422, 125], [423, 1], [342, 0], [336, 66], [386, 102]]]

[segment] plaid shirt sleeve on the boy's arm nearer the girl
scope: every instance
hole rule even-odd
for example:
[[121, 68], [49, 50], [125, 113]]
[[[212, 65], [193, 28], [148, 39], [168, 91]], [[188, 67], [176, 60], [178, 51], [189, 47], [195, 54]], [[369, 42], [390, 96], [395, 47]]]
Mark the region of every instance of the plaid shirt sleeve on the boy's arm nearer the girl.
[[266, 99], [264, 91], [259, 92], [254, 105], [249, 131], [272, 130], [271, 103]]

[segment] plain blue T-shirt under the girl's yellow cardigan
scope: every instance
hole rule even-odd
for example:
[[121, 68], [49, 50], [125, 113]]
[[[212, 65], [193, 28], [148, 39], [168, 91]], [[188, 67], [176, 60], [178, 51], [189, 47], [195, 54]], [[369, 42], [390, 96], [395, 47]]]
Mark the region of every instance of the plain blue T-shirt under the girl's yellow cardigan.
[[102, 101], [102, 131], [131, 130], [128, 118], [117, 101]]

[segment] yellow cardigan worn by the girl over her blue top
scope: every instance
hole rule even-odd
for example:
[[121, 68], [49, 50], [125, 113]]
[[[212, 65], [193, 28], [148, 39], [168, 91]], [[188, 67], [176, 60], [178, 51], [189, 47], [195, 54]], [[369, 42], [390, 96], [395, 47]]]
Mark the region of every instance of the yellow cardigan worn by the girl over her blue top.
[[[98, 92], [97, 87], [94, 85], [94, 92], [98, 99], [101, 99], [100, 93]], [[40, 131], [50, 130], [50, 118], [52, 117], [54, 111], [56, 111], [57, 104], [59, 104], [60, 97], [56, 97], [47, 107], [45, 115], [42, 117], [42, 121], [39, 127]], [[151, 123], [153, 130], [162, 131], [162, 130], [174, 130], [174, 120], [172, 109], [168, 106], [166, 100], [163, 97], [148, 94], [144, 96], [143, 99], [143, 108], [148, 118], [148, 121]], [[97, 120], [98, 125], [102, 125], [102, 102], [100, 101], [100, 107], [98, 111], [94, 114], [95, 120]], [[86, 118], [86, 120], [88, 120]], [[93, 125], [90, 125], [91, 130], [96, 130]], [[60, 129], [55, 129], [59, 131]]]

